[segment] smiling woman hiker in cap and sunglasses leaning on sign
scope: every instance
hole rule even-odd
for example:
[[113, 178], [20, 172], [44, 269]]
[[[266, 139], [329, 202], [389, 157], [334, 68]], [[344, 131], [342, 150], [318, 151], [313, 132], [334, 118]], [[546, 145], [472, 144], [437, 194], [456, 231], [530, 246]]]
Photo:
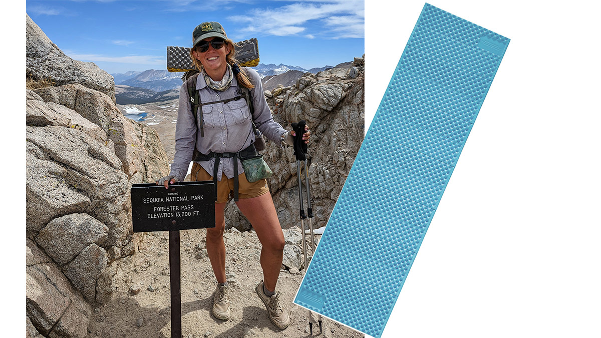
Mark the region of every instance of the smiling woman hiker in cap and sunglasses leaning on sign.
[[[263, 95], [258, 73], [240, 69], [234, 58], [234, 43], [227, 38], [218, 22], [203, 22], [192, 33], [191, 57], [200, 70], [196, 89], [200, 94], [202, 114], [192, 115], [188, 79], [180, 89], [180, 105], [175, 129], [175, 158], [169, 176], [157, 180], [158, 185], [174, 184], [185, 179], [194, 147], [200, 155], [192, 165], [191, 180], [213, 180], [217, 184], [215, 202], [215, 228], [207, 229], [207, 252], [218, 285], [213, 295], [211, 313], [215, 318], [230, 319], [229, 286], [225, 278], [225, 204], [233, 196], [242, 214], [248, 218], [261, 241], [261, 280], [255, 291], [267, 307], [269, 319], [276, 327], [288, 327], [288, 313], [279, 304], [275, 292], [282, 265], [284, 234], [273, 206], [267, 181], [248, 182], [240, 162], [241, 153], [254, 153], [255, 134], [252, 121], [267, 138], [276, 144], [293, 144], [294, 131], [285, 131], [273, 121]], [[254, 112], [240, 96], [242, 86], [251, 92]], [[199, 109], [200, 110], [200, 109]], [[303, 134], [309, 142], [308, 128]], [[237, 155], [237, 156], [236, 156]], [[212, 174], [211, 174], [212, 173]], [[241, 173], [236, 175], [237, 173]]]

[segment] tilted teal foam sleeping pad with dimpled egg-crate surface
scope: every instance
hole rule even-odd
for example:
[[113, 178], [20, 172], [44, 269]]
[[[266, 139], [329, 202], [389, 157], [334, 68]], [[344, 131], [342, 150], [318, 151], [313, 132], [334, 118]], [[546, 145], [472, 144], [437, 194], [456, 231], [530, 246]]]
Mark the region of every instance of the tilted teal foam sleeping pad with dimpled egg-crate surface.
[[424, 5], [294, 303], [382, 335], [508, 43]]

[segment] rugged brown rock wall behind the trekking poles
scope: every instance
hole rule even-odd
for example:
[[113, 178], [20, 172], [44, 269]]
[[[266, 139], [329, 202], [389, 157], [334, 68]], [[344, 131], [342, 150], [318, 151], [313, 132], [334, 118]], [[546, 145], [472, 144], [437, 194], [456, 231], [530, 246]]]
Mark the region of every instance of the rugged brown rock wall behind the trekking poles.
[[[325, 226], [364, 137], [364, 58], [355, 58], [346, 68], [305, 73], [293, 86], [279, 85], [273, 91], [266, 90], [265, 96], [273, 119], [285, 129], [305, 120], [313, 131], [307, 161], [313, 224], [314, 228]], [[300, 226], [292, 147], [282, 151], [267, 142], [264, 158], [273, 171], [267, 182], [282, 227]], [[304, 185], [304, 174], [302, 178]], [[227, 227], [250, 227], [234, 204], [228, 204], [226, 216]]]

